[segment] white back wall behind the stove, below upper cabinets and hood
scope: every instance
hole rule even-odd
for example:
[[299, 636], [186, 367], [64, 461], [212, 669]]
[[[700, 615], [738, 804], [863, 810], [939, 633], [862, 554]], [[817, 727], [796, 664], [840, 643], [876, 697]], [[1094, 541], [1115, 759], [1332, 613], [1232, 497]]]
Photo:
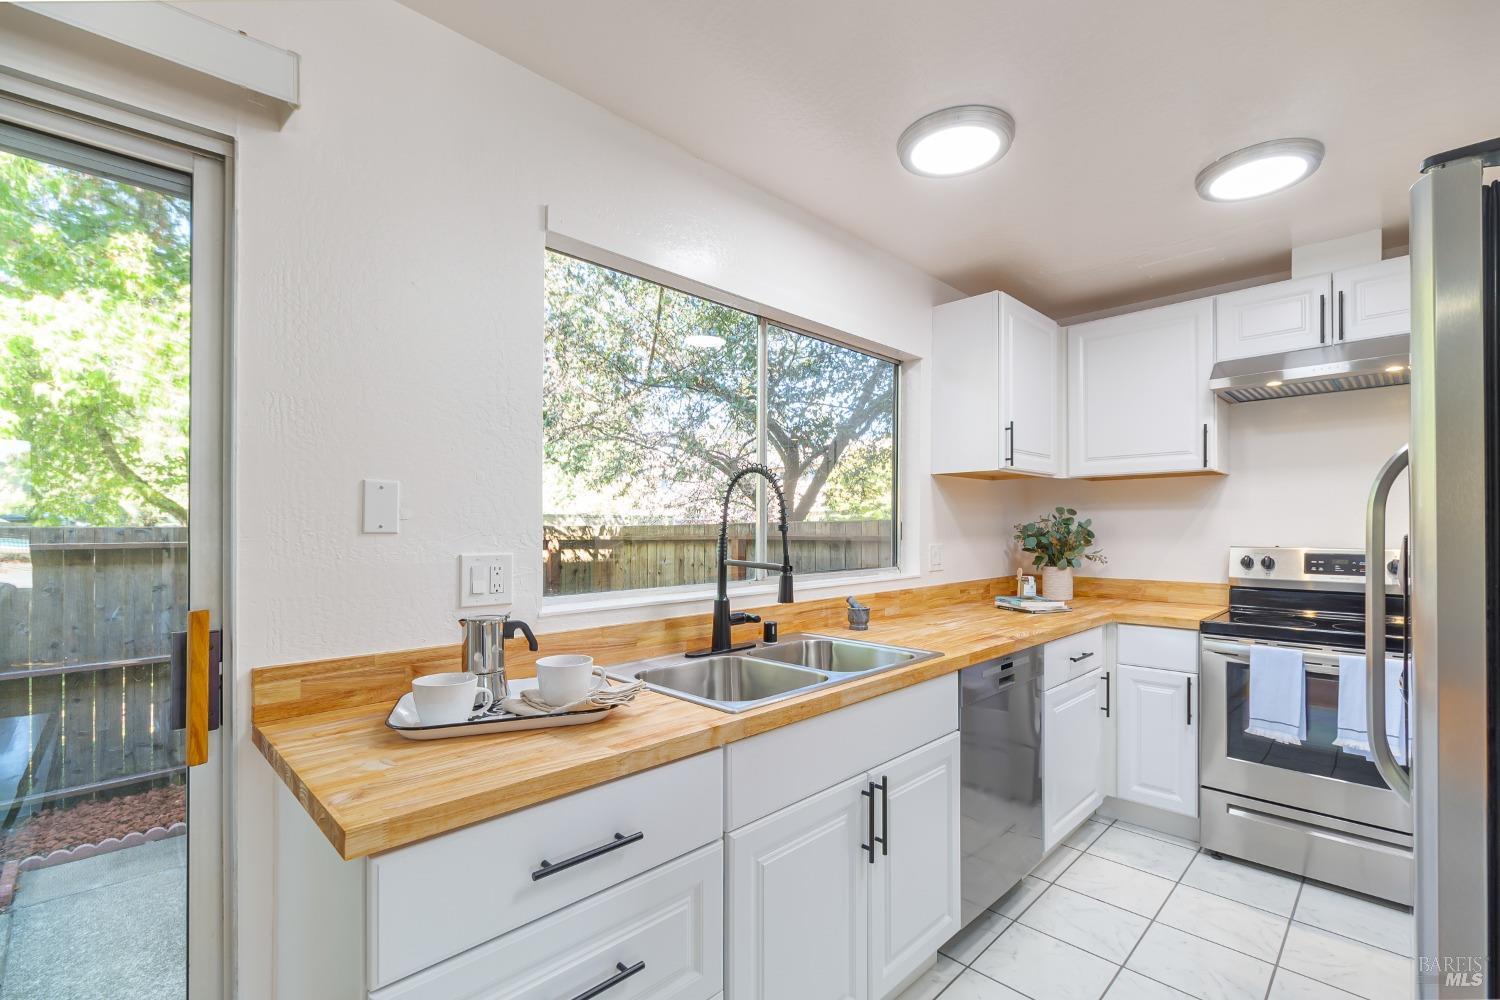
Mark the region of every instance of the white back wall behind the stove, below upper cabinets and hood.
[[[1026, 481], [1005, 496], [1006, 525], [1077, 507], [1110, 558], [1083, 573], [1146, 580], [1222, 583], [1230, 546], [1359, 549], [1370, 484], [1406, 444], [1407, 409], [1404, 385], [1239, 403], [1228, 408], [1227, 477]], [[1402, 477], [1390, 501], [1392, 547], [1406, 525]]]

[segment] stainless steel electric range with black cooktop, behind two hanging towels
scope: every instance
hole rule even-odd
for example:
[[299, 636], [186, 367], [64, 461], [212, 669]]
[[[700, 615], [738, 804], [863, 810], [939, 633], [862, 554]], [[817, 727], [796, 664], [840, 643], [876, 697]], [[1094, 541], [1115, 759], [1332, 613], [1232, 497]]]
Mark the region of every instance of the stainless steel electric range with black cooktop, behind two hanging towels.
[[[1412, 688], [1401, 553], [1388, 550], [1380, 571], [1388, 663], [1400, 666], [1404, 696]], [[1200, 634], [1203, 847], [1410, 906], [1412, 805], [1366, 756], [1335, 744], [1341, 657], [1365, 651], [1364, 552], [1230, 549], [1230, 609], [1204, 621]], [[1246, 732], [1256, 646], [1300, 652], [1305, 738]], [[1404, 750], [1410, 766], [1408, 738]]]

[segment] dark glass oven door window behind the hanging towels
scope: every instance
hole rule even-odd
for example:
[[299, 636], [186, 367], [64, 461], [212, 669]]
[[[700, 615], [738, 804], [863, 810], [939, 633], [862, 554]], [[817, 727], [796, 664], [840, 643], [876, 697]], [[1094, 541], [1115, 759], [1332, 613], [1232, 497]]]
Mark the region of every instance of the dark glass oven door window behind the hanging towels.
[[1384, 789], [1386, 783], [1372, 762], [1364, 754], [1334, 745], [1338, 738], [1338, 673], [1308, 667], [1302, 678], [1308, 697], [1308, 738], [1300, 744], [1278, 744], [1245, 732], [1250, 724], [1250, 664], [1244, 660], [1226, 661], [1224, 709], [1228, 756], [1270, 768]]

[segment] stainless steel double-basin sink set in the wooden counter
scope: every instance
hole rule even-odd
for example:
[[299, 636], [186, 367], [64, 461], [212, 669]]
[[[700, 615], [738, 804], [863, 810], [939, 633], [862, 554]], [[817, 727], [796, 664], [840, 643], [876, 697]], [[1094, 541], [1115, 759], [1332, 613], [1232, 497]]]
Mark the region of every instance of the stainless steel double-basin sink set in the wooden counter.
[[940, 657], [927, 649], [794, 633], [782, 642], [716, 657], [672, 654], [609, 667], [612, 678], [720, 712], [746, 709]]

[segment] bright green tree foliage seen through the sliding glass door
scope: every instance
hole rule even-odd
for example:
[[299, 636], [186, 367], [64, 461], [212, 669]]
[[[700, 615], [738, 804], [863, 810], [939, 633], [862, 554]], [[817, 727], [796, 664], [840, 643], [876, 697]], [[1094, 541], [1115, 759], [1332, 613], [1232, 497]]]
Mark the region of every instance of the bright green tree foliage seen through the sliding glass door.
[[0, 151], [3, 513], [186, 523], [189, 279], [184, 199]]

